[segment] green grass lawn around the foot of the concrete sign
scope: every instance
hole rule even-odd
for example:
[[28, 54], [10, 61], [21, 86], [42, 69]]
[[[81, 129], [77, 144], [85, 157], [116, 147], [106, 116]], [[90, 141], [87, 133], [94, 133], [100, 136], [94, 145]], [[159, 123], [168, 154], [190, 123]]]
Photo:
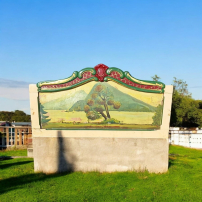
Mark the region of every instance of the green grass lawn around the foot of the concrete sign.
[[202, 151], [170, 147], [165, 174], [33, 172], [33, 159], [0, 161], [0, 201], [202, 201]]

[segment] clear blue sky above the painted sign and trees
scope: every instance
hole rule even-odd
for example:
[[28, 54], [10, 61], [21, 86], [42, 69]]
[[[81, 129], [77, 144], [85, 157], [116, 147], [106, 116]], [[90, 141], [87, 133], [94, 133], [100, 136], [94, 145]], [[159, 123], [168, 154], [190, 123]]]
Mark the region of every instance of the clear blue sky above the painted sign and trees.
[[0, 110], [30, 113], [29, 84], [99, 63], [202, 99], [201, 0], [1, 0], [0, 22]]

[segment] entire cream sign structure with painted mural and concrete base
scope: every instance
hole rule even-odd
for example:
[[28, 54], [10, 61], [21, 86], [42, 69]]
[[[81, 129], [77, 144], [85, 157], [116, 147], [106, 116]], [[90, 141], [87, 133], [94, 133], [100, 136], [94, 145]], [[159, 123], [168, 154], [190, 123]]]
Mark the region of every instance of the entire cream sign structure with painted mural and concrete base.
[[172, 86], [99, 64], [30, 85], [34, 170], [168, 170]]

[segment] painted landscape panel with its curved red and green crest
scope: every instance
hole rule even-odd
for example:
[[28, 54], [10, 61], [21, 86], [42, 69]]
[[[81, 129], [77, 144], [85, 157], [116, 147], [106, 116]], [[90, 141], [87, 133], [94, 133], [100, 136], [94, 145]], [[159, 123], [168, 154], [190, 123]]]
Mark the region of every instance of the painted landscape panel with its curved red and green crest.
[[137, 80], [100, 64], [64, 80], [40, 82], [43, 129], [157, 130], [161, 126], [161, 82]]

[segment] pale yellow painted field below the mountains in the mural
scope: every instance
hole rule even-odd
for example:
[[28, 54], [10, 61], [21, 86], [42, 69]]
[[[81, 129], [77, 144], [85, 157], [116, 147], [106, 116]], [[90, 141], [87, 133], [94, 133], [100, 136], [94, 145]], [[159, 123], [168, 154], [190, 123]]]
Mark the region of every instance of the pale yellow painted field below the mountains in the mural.
[[[82, 122], [88, 123], [85, 112], [65, 112], [65, 110], [46, 110], [51, 118], [51, 122], [63, 123], [63, 122]], [[152, 124], [153, 112], [119, 112], [110, 111], [111, 118], [119, 120], [125, 124]], [[97, 120], [90, 120], [91, 123], [101, 122], [104, 118]]]

